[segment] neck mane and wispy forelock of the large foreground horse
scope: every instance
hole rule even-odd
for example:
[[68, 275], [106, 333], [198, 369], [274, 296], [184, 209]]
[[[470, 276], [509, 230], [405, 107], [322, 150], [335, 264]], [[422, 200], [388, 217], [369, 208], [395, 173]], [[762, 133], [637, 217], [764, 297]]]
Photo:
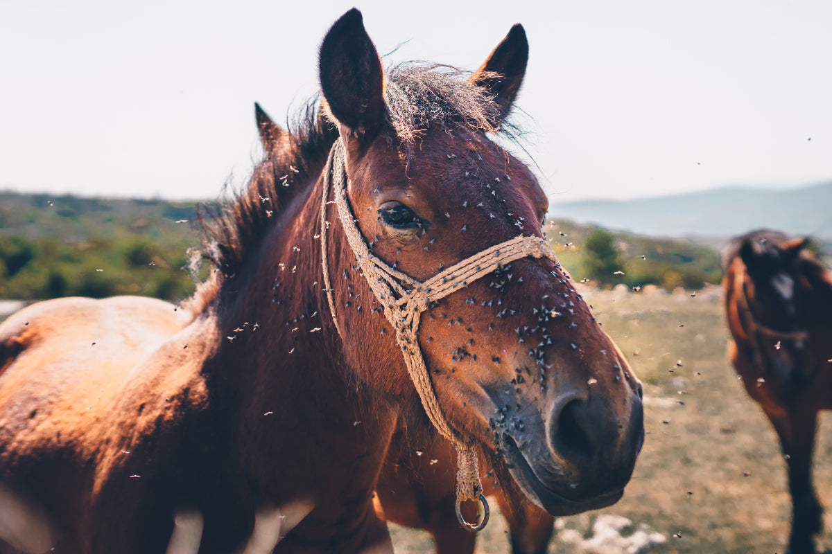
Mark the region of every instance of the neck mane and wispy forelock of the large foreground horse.
[[[407, 159], [429, 129], [499, 133], [516, 140], [518, 128], [502, 120], [493, 95], [469, 81], [470, 75], [454, 67], [418, 62], [387, 71], [385, 100], [393, 130], [389, 140], [398, 141]], [[299, 184], [310, 182], [323, 167], [338, 130], [322, 111], [319, 96], [308, 101], [288, 125], [285, 148], [266, 153], [234, 199], [198, 214], [203, 243], [199, 257], [217, 270], [217, 284], [240, 269], [282, 210], [305, 189]]]

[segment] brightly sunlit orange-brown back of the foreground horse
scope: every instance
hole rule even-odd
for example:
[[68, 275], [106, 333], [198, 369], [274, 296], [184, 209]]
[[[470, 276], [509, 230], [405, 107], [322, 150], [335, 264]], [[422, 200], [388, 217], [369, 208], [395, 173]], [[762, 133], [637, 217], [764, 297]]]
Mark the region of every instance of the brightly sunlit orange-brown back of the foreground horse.
[[[106, 417], [129, 372], [186, 324], [143, 297], [39, 302], [0, 325], [0, 470], [45, 438], [77, 440]], [[85, 412], [87, 414], [85, 414]], [[27, 446], [23, 446], [26, 444]], [[2, 477], [2, 472], [0, 472]]]

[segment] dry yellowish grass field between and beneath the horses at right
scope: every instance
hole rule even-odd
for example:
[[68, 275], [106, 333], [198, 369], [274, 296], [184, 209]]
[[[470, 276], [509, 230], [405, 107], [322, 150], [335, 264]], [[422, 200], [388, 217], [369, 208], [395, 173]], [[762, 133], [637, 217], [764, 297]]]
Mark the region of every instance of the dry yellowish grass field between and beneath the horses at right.
[[[611, 513], [667, 537], [651, 552], [784, 552], [790, 528], [785, 463], [768, 420], [726, 361], [719, 289], [696, 292], [696, 297], [682, 291], [587, 291], [584, 297], [645, 383], [647, 437], [622, 501], [564, 517], [560, 524], [586, 532], [598, 514]], [[815, 482], [821, 503], [830, 506], [828, 529], [830, 454], [832, 427], [828, 417], [821, 417]], [[503, 520], [493, 517], [478, 552], [508, 552], [505, 534]], [[393, 536], [397, 552], [432, 548], [424, 533], [395, 527]], [[832, 532], [827, 532], [819, 549], [830, 548]], [[556, 537], [548, 552], [573, 549]]]

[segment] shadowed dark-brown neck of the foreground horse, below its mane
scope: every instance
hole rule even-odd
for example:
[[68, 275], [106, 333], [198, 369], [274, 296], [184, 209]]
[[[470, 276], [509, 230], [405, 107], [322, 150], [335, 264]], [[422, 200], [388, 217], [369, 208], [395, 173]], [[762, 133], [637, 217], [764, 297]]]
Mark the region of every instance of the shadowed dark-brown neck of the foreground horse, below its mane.
[[[312, 488], [341, 487], [349, 498], [374, 486], [394, 411], [344, 360], [323, 290], [320, 184], [307, 186], [310, 194], [220, 292], [215, 370], [234, 383], [246, 471], [261, 490], [292, 495], [314, 481]], [[343, 244], [329, 220], [330, 238]], [[330, 271], [340, 275], [350, 261], [341, 250]], [[344, 302], [344, 293], [336, 298]]]

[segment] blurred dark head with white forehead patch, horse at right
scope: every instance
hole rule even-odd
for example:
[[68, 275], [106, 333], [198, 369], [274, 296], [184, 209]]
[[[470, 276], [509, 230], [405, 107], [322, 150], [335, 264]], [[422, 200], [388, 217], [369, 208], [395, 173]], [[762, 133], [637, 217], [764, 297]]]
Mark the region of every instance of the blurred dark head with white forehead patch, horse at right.
[[759, 355], [768, 360], [783, 385], [802, 385], [808, 335], [801, 321], [800, 252], [805, 238], [789, 239], [782, 233], [758, 231], [741, 239], [739, 257], [745, 265], [746, 331]]

